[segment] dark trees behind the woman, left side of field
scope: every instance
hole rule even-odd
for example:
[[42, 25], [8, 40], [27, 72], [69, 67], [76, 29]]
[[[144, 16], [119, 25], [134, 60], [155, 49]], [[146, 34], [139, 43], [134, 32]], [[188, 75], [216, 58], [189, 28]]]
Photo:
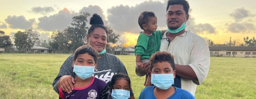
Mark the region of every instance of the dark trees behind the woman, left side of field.
[[[14, 45], [17, 50], [31, 50], [35, 45], [56, 49], [56, 50], [76, 50], [81, 45], [86, 45], [85, 37], [87, 35], [90, 13], [80, 12], [79, 15], [72, 17], [71, 26], [64, 30], [52, 31], [52, 35], [48, 40], [39, 39], [40, 33], [38, 31], [25, 29], [24, 31], [17, 31], [14, 33]], [[108, 28], [108, 45], [118, 42], [120, 35], [116, 34], [111, 27]], [[4, 31], [0, 31], [0, 48], [12, 47], [12, 41]]]

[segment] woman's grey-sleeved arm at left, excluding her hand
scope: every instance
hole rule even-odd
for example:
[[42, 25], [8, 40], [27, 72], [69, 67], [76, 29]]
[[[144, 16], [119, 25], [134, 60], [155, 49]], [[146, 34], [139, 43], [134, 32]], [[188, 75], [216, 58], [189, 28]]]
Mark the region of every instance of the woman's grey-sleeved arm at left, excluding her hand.
[[60, 88], [60, 85], [58, 85], [58, 81], [62, 76], [70, 75], [70, 76], [73, 76], [73, 78], [75, 77], [75, 74], [73, 73], [73, 68], [72, 68], [72, 59], [73, 59], [73, 55], [71, 55], [66, 59], [66, 61], [62, 64], [58, 75], [52, 82], [52, 87], [56, 93], [58, 93], [58, 89]]

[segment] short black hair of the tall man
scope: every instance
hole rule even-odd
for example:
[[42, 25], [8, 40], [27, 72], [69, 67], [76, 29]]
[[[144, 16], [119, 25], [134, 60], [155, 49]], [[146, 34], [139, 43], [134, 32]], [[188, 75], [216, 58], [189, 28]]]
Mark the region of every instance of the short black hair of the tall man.
[[171, 5], [182, 5], [186, 14], [189, 13], [189, 3], [186, 0], [168, 0], [166, 11], [168, 11]]

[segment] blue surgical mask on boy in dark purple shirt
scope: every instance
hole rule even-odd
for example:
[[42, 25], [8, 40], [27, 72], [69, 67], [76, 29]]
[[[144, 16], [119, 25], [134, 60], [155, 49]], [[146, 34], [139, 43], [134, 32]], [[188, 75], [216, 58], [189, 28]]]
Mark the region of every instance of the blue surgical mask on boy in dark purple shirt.
[[79, 78], [84, 80], [93, 76], [94, 68], [95, 66], [79, 66], [79, 65], [75, 65], [74, 63], [73, 72], [76, 73], [76, 75]]

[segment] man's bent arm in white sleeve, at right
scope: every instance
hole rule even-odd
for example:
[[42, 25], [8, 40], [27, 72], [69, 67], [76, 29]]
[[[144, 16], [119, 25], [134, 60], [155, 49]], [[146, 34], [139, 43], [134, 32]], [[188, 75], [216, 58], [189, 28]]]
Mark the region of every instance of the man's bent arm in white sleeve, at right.
[[209, 47], [203, 38], [197, 38], [192, 45], [189, 65], [176, 65], [177, 76], [183, 79], [192, 80], [200, 85], [207, 77], [210, 66]]

